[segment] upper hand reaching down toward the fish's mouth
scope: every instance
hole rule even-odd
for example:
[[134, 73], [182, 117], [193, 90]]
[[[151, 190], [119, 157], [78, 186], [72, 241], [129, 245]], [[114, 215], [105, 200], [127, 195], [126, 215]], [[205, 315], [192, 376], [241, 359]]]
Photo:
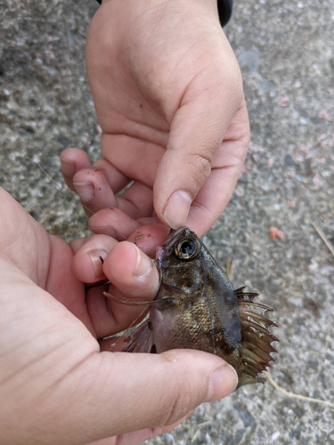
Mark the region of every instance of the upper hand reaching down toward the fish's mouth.
[[[88, 214], [118, 207], [131, 225], [150, 218], [154, 204], [160, 222], [203, 235], [231, 198], [249, 138], [240, 69], [216, 0], [104, 0], [86, 65], [102, 159], [94, 172], [84, 151], [65, 150], [69, 187]], [[110, 213], [94, 215], [94, 229], [106, 225], [122, 233]]]

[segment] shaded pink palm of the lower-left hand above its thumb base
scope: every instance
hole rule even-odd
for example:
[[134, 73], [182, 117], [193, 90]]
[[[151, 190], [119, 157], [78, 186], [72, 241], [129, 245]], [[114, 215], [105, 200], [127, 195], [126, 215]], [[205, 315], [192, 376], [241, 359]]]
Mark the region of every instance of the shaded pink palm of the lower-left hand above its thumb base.
[[[86, 310], [85, 285], [71, 271], [74, 253], [69, 244], [49, 235], [4, 190], [1, 198], [4, 206], [1, 228], [6, 237], [0, 239], [0, 251], [4, 257], [17, 266], [25, 280], [31, 279], [37, 287], [45, 289], [93, 330]], [[22, 304], [29, 305], [24, 300]], [[58, 306], [61, 308], [61, 304]]]

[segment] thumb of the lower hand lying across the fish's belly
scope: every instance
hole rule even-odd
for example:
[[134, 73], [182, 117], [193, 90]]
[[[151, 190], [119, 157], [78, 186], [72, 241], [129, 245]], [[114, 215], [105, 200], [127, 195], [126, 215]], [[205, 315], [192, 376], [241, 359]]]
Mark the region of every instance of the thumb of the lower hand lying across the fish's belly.
[[69, 435], [75, 432], [86, 441], [174, 424], [201, 402], [227, 396], [237, 384], [235, 370], [224, 360], [190, 350], [101, 352], [69, 378], [69, 387], [77, 389], [67, 400]]

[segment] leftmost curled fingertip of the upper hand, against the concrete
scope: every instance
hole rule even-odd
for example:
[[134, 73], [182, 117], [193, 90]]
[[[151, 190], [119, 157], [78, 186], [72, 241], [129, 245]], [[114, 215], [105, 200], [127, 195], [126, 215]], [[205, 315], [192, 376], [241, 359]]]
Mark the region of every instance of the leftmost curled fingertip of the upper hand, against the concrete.
[[61, 151], [61, 173], [70, 190], [75, 191], [73, 176], [83, 168], [92, 168], [86, 151], [80, 149]]

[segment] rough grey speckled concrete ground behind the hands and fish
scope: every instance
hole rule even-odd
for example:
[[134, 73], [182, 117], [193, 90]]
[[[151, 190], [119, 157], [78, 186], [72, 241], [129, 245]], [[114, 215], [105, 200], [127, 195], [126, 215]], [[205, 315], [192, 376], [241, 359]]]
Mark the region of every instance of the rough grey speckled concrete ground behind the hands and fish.
[[[98, 158], [100, 133], [86, 81], [94, 0], [0, 4], [0, 185], [45, 228], [87, 233], [63, 185], [59, 154]], [[252, 128], [244, 173], [206, 236], [233, 284], [273, 306], [281, 343], [272, 369], [286, 391], [334, 402], [333, 0], [235, 0], [225, 29], [240, 61]], [[283, 239], [271, 239], [271, 227]], [[272, 384], [202, 405], [158, 444], [330, 445], [334, 409], [287, 397]]]

